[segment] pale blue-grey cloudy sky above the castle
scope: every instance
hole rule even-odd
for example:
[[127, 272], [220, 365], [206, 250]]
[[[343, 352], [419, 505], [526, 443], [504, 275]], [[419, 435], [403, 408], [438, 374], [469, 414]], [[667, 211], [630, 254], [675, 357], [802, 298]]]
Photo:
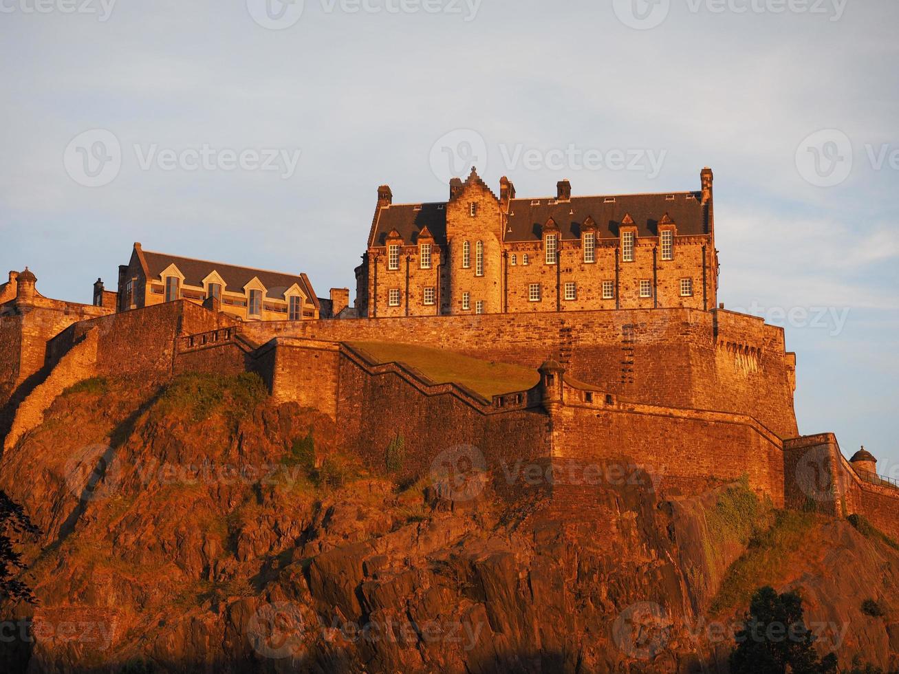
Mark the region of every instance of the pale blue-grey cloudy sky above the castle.
[[0, 0], [0, 268], [89, 303], [139, 241], [325, 297], [382, 183], [708, 165], [719, 300], [785, 328], [802, 433], [899, 478], [897, 25], [895, 0]]

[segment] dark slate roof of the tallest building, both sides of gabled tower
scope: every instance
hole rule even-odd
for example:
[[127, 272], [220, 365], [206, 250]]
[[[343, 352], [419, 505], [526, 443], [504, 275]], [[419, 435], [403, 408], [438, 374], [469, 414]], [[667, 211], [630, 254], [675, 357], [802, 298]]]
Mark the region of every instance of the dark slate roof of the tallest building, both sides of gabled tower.
[[[638, 236], [657, 236], [659, 220], [665, 214], [674, 221], [678, 235], [708, 234], [708, 214], [700, 192], [572, 197], [570, 201], [514, 199], [509, 210], [504, 239], [512, 242], [539, 241], [541, 228], [550, 217], [559, 226], [563, 239], [580, 239], [581, 226], [587, 217], [592, 217], [596, 223], [597, 238], [618, 238], [619, 226], [627, 214], [633, 218]], [[405, 244], [415, 244], [424, 226], [431, 231], [437, 244], [446, 244], [446, 203], [396, 204], [380, 208], [369, 245], [385, 245], [387, 235], [394, 229]]]

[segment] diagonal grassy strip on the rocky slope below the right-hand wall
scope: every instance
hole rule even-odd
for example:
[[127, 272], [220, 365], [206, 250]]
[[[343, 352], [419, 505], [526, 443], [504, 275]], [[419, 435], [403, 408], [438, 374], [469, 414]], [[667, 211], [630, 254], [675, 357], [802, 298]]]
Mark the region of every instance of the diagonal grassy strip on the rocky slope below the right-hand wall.
[[727, 570], [712, 599], [711, 613], [748, 604], [752, 592], [761, 586], [778, 585], [789, 557], [809, 545], [808, 534], [818, 521], [814, 513], [778, 510], [773, 526], [755, 534], [749, 549]]

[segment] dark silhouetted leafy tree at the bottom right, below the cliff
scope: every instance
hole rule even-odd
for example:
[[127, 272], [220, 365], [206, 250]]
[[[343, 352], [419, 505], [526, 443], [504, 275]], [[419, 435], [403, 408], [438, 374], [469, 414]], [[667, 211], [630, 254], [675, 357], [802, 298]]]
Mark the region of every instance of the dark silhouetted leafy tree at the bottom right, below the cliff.
[[806, 627], [802, 598], [796, 592], [756, 590], [735, 638], [732, 674], [836, 674], [836, 655], [822, 660], [814, 651], [814, 634]]

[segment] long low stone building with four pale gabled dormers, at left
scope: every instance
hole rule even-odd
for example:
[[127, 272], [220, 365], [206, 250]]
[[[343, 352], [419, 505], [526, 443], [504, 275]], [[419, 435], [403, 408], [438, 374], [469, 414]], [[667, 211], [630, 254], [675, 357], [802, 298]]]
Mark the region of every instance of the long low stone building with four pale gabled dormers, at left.
[[[93, 304], [117, 311], [178, 299], [212, 307], [242, 321], [309, 321], [339, 315], [349, 292], [334, 288], [320, 300], [304, 273], [287, 274], [223, 262], [145, 251], [134, 244], [128, 264], [119, 267], [119, 290], [103, 289], [97, 279]], [[323, 304], [325, 305], [323, 307]]]

